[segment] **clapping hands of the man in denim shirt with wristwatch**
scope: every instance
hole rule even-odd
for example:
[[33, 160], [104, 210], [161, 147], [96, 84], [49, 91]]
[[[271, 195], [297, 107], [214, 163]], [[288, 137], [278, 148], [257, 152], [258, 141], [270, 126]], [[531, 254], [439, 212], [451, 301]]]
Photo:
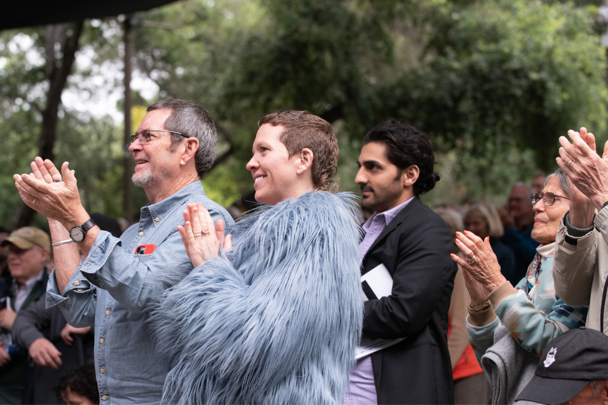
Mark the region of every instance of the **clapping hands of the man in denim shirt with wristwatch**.
[[[42, 158], [36, 157], [31, 164], [32, 173], [13, 176], [19, 196], [30, 208], [64, 225], [67, 220], [75, 217], [75, 214], [84, 212], [74, 171], [67, 165], [67, 162], [63, 163], [60, 174], [50, 160], [43, 161]], [[55, 182], [60, 179], [64, 181]]]

